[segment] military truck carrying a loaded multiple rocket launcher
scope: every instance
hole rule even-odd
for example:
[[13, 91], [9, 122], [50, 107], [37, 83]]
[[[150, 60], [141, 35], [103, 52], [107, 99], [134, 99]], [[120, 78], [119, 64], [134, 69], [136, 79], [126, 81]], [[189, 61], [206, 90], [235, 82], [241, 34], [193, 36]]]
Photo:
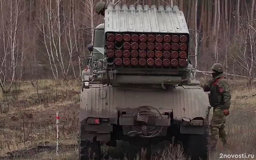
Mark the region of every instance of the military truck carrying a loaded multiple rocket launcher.
[[82, 72], [79, 159], [100, 160], [100, 146], [116, 140], [144, 147], [175, 137], [192, 160], [207, 160], [209, 102], [193, 80], [188, 58], [198, 54], [183, 12], [105, 2], [96, 12], [104, 23]]

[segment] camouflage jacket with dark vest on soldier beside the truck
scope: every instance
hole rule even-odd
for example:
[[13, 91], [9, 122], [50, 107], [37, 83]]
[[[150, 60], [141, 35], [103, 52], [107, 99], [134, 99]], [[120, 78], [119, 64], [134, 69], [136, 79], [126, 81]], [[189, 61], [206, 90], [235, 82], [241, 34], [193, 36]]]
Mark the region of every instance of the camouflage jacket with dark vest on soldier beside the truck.
[[224, 74], [220, 74], [202, 86], [209, 92], [209, 101], [212, 107], [230, 108], [231, 93]]

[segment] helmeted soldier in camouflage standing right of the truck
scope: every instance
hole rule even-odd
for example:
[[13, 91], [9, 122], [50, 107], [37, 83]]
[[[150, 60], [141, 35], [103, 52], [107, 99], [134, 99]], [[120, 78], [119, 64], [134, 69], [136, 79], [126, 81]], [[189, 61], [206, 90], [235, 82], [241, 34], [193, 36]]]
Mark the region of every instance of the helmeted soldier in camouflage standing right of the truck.
[[213, 116], [210, 123], [210, 141], [212, 144], [210, 149], [216, 151], [218, 136], [224, 146], [226, 145], [225, 119], [229, 115], [231, 94], [222, 64], [216, 63], [211, 69], [213, 71], [212, 80], [202, 87], [205, 92], [210, 91], [209, 101], [213, 107]]

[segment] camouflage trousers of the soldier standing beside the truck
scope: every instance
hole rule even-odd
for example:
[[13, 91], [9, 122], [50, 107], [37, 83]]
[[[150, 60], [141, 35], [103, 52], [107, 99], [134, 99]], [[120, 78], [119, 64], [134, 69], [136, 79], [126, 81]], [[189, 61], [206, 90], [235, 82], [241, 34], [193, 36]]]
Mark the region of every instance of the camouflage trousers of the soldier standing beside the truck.
[[226, 116], [223, 114], [223, 109], [216, 107], [213, 109], [213, 116], [210, 122], [210, 150], [216, 150], [216, 144], [218, 137], [221, 139], [222, 143], [226, 145], [226, 130], [225, 130]]

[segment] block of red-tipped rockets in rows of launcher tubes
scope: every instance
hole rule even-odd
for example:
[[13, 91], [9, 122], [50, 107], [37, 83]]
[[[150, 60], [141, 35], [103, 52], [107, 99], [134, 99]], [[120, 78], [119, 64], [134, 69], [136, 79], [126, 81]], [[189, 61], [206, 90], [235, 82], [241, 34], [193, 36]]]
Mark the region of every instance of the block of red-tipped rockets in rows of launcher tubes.
[[186, 67], [186, 34], [108, 33], [106, 56], [115, 66]]

